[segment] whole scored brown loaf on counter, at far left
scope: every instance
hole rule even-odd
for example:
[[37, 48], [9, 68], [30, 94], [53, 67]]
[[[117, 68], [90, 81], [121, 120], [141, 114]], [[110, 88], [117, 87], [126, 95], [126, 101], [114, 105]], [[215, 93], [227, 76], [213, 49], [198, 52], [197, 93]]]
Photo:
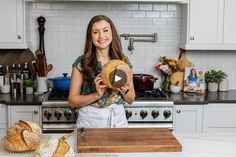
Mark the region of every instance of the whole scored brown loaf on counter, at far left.
[[19, 121], [7, 130], [4, 148], [12, 152], [36, 150], [40, 145], [41, 128], [34, 122]]

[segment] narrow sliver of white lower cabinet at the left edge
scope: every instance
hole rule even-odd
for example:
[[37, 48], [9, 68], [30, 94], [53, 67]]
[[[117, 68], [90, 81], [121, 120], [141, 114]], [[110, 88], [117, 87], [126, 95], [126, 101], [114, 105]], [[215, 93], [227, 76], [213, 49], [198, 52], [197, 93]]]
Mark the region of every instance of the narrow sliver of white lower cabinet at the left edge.
[[7, 129], [7, 106], [0, 103], [0, 133], [5, 133]]

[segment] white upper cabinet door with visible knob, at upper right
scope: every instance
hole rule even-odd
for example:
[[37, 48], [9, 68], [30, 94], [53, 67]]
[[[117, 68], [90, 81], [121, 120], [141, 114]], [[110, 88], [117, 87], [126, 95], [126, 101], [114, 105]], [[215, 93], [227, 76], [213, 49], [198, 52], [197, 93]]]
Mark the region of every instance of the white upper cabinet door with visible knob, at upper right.
[[222, 42], [222, 0], [191, 0], [189, 9], [189, 37], [191, 44]]

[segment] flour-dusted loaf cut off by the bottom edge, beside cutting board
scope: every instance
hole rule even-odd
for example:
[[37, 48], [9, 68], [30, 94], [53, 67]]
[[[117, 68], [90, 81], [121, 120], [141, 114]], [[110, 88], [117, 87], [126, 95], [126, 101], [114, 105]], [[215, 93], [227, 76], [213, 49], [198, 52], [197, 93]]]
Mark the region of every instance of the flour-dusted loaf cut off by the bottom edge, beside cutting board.
[[35, 151], [35, 157], [74, 157], [70, 145], [62, 139], [49, 140]]

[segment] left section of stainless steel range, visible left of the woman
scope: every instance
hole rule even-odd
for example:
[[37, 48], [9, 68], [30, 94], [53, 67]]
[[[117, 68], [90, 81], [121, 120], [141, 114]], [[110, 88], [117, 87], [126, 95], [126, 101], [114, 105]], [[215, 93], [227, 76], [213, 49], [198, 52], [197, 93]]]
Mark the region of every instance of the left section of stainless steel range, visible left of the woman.
[[68, 92], [52, 90], [42, 102], [42, 131], [71, 132], [75, 128], [78, 109], [68, 104]]

